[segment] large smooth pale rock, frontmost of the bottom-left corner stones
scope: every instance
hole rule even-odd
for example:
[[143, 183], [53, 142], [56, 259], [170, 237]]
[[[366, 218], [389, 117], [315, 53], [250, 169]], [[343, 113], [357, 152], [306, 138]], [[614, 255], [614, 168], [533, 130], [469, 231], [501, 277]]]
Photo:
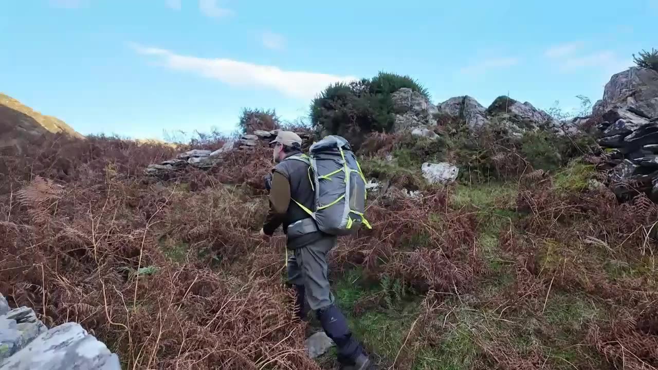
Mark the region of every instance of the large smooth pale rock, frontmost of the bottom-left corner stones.
[[116, 354], [76, 323], [44, 332], [22, 350], [0, 362], [2, 370], [120, 370]]

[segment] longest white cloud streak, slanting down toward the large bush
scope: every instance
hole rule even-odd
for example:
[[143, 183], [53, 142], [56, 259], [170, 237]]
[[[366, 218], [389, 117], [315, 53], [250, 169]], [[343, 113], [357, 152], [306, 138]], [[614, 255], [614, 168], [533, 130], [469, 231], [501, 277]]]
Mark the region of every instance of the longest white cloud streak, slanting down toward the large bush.
[[335, 82], [356, 80], [353, 76], [336, 76], [316, 72], [282, 70], [276, 66], [257, 65], [224, 58], [199, 58], [179, 55], [166, 49], [132, 44], [141, 55], [155, 57], [167, 68], [213, 78], [230, 86], [267, 88], [289, 97], [310, 99]]

